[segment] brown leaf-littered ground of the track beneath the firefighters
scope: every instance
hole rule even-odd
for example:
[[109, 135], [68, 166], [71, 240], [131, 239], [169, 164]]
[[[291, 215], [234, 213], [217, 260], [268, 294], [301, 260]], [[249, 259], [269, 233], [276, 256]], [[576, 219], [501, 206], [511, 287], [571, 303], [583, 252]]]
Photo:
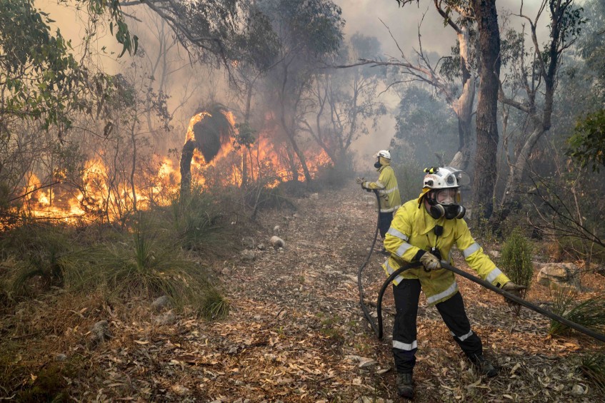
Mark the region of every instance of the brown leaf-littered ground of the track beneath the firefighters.
[[[231, 302], [226, 320], [204, 322], [183, 312], [158, 325], [149, 302], [119, 307], [95, 295], [67, 301], [57, 292], [36, 302], [46, 306], [46, 319], [38, 315], [14, 333], [27, 336], [13, 340], [24, 348], [23, 357], [15, 359], [46, 362], [43, 368], [85, 367], [62, 382], [73, 399], [86, 402], [404, 401], [394, 387], [390, 287], [383, 340], [359, 307], [357, 271], [374, 235], [374, 202], [372, 193], [351, 182], [338, 192], [294, 200], [296, 210], [261, 213], [247, 235], [267, 248], [255, 250], [254, 260], [213, 263]], [[269, 246], [276, 225], [285, 241], [281, 250]], [[372, 252], [362, 275], [372, 312], [385, 279], [379, 267], [384, 259]], [[469, 270], [459, 255], [456, 265]], [[582, 281], [588, 291], [605, 284], [600, 275]], [[548, 337], [548, 319], [526, 309], [516, 316], [499, 295], [463, 278], [458, 282], [473, 329], [500, 374], [491, 379], [476, 374], [436, 309], [421, 300], [416, 402], [605, 399], [578, 370], [581, 355], [597, 350], [597, 342], [578, 333]], [[550, 302], [548, 290], [537, 284], [526, 298], [546, 307]], [[61, 316], [64, 322], [50, 320]], [[82, 337], [100, 319], [108, 320], [113, 337], [86, 347]], [[66, 364], [57, 364], [56, 354], [65, 354]], [[31, 368], [31, 377], [40, 376], [39, 365]]]

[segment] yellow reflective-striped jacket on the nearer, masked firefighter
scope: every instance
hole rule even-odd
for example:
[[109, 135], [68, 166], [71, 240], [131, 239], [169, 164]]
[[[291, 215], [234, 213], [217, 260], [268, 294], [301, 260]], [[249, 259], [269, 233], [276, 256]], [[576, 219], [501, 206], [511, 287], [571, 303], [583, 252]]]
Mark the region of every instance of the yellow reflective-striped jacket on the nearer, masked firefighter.
[[[430, 250], [435, 247], [441, 252], [441, 259], [451, 263], [451, 246], [456, 244], [466, 263], [479, 274], [479, 276], [493, 285], [504, 285], [509, 282], [503, 272], [483, 252], [483, 248], [475, 242], [462, 219], [435, 220], [424, 208], [422, 200], [409, 200], [395, 214], [391, 228], [386, 233], [384, 248], [391, 252], [382, 265], [385, 272], [390, 275], [399, 267], [414, 260], [419, 250]], [[420, 203], [420, 204], [419, 204]], [[420, 208], [419, 208], [420, 206]], [[434, 233], [435, 225], [441, 225], [442, 235], [437, 237]], [[446, 270], [432, 270], [425, 272], [422, 266], [406, 270], [395, 277], [395, 285], [402, 279], [418, 279], [422, 285], [426, 302], [435, 305], [448, 300], [458, 292], [458, 285], [454, 273]]]

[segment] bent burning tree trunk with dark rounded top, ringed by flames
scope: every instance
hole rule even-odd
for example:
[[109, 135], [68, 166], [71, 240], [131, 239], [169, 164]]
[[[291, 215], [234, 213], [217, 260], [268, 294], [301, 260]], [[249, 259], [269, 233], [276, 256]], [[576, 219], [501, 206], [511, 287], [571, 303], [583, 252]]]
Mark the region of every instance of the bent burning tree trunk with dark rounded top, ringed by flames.
[[181, 196], [189, 194], [191, 189], [191, 158], [194, 151], [199, 150], [204, 162], [210, 163], [233, 135], [233, 117], [221, 104], [212, 106], [209, 111], [196, 113], [191, 118], [181, 152]]

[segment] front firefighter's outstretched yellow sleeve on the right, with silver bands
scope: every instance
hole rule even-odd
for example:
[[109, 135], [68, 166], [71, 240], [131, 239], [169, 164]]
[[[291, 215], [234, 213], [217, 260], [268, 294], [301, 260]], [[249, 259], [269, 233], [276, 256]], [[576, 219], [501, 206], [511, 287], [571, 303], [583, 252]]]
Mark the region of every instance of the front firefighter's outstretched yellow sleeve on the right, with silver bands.
[[483, 248], [476, 243], [471, 236], [469, 228], [466, 226], [464, 220], [459, 221], [461, 228], [458, 238], [456, 238], [456, 247], [462, 252], [466, 263], [477, 272], [479, 277], [487, 282], [490, 282], [496, 287], [502, 287], [507, 282], [511, 281], [509, 277], [506, 277], [501, 270], [496, 267], [496, 264], [491, 261], [488, 255], [483, 251]]

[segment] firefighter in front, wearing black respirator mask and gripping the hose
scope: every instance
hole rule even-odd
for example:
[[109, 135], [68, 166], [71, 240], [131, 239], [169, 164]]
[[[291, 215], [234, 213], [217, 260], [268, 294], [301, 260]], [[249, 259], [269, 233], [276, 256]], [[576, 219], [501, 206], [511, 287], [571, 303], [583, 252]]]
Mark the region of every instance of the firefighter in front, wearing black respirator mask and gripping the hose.
[[416, 315], [421, 290], [426, 302], [436, 305], [454, 340], [479, 372], [488, 377], [498, 374], [483, 355], [481, 339], [471, 330], [454, 273], [441, 267], [441, 260], [451, 262], [453, 245], [483, 280], [516, 295], [524, 288], [511, 282], [496, 267], [461, 219], [465, 209], [459, 204], [460, 185], [468, 183], [468, 175], [451, 167], [430, 168], [425, 172], [419, 198], [397, 210], [384, 240], [386, 250], [391, 252], [383, 265], [387, 274], [409, 262], [422, 264], [402, 272], [393, 281], [396, 383], [399, 394], [410, 399], [414, 397], [412, 372], [416, 362]]

